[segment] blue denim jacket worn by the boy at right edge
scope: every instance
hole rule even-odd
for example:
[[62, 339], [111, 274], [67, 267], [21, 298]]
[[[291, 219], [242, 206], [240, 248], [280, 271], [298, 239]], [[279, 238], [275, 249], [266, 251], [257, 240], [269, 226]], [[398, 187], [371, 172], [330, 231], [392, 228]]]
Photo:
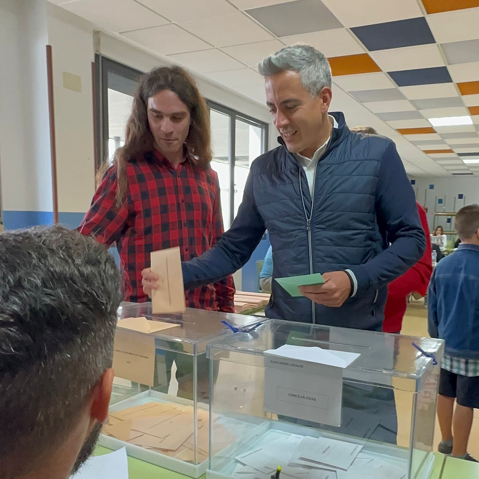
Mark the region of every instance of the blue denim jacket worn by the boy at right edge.
[[479, 359], [479, 246], [461, 243], [436, 266], [428, 290], [428, 328], [445, 353]]

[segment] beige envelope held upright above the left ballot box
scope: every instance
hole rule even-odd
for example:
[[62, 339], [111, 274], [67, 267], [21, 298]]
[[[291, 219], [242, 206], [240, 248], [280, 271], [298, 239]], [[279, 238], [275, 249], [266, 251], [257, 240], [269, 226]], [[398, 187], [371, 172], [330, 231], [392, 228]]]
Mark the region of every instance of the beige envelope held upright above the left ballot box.
[[184, 313], [186, 303], [180, 248], [153, 251], [151, 269], [160, 276], [160, 288], [153, 290], [151, 296], [153, 314]]

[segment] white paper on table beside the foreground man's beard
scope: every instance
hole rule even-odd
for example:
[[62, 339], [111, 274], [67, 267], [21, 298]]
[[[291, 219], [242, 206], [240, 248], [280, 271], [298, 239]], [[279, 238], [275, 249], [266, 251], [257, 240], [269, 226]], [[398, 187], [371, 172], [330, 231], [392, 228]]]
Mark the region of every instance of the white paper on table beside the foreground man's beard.
[[72, 479], [128, 479], [128, 461], [126, 449], [103, 456], [92, 456], [85, 461]]

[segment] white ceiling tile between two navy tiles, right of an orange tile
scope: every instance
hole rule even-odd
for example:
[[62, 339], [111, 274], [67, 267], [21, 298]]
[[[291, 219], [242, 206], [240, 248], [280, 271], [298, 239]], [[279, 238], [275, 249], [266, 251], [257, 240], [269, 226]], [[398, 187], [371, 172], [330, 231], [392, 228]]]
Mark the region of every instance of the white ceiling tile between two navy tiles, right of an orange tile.
[[378, 50], [370, 55], [384, 71], [444, 67], [443, 57], [436, 44]]

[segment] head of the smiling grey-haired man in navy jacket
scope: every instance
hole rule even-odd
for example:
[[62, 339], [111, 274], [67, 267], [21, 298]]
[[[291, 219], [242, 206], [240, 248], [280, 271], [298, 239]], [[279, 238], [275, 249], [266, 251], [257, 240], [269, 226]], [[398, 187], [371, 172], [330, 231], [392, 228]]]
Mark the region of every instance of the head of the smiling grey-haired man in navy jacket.
[[266, 104], [286, 148], [311, 158], [331, 133], [331, 68], [309, 45], [285, 46], [258, 65]]

